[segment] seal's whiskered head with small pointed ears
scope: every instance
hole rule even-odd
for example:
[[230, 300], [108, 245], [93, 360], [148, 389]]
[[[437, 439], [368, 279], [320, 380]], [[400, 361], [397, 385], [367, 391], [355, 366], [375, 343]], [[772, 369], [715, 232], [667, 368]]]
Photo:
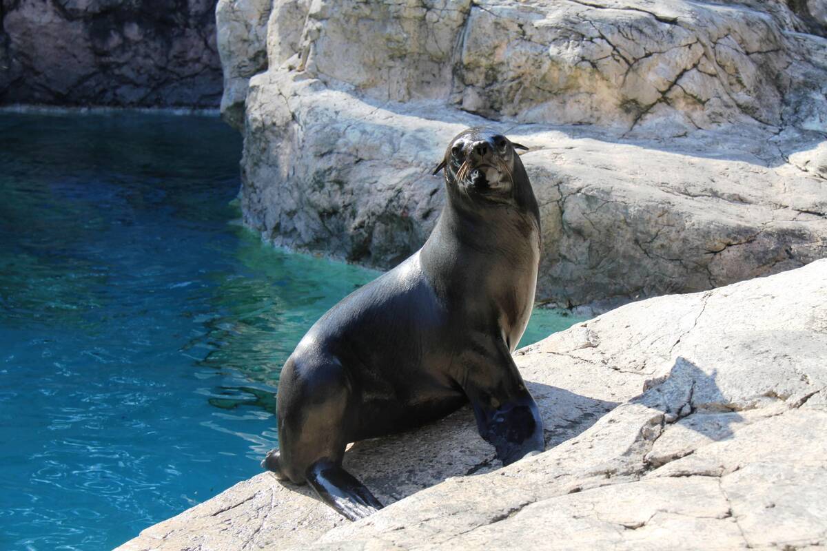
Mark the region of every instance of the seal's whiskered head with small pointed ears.
[[514, 197], [514, 187], [524, 174], [515, 150], [528, 148], [499, 132], [476, 126], [451, 141], [433, 173], [444, 169], [449, 189], [454, 188], [466, 197], [507, 201]]

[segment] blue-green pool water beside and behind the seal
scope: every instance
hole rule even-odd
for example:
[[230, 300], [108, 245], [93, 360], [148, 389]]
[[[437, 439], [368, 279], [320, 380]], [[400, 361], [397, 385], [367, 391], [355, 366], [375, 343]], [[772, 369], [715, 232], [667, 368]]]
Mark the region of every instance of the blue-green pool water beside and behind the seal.
[[0, 114], [0, 549], [111, 549], [260, 472], [281, 363], [377, 273], [234, 223], [240, 157], [212, 117]]

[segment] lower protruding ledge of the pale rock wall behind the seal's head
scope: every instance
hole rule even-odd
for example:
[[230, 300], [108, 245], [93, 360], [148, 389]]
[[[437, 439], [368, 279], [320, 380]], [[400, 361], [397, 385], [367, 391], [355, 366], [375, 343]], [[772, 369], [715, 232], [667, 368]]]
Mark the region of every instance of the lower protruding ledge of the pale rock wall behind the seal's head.
[[576, 306], [696, 291], [827, 256], [817, 141], [794, 164], [779, 150], [801, 142], [762, 142], [748, 128], [610, 142], [588, 127], [374, 104], [278, 72], [252, 79], [247, 122], [244, 216], [275, 245], [396, 264], [442, 207], [442, 178], [430, 172], [445, 144], [490, 124], [532, 148], [523, 164], [543, 217], [541, 299]]

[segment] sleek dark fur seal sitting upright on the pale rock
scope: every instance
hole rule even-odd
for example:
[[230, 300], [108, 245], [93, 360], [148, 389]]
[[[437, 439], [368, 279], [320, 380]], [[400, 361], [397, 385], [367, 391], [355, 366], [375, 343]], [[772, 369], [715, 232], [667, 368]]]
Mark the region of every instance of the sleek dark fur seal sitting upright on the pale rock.
[[504, 135], [471, 128], [448, 145], [447, 200], [422, 249], [352, 292], [284, 364], [279, 450], [262, 467], [308, 482], [350, 520], [381, 503], [342, 468], [349, 442], [409, 430], [471, 402], [504, 465], [542, 451], [543, 420], [511, 357], [531, 315], [540, 218]]

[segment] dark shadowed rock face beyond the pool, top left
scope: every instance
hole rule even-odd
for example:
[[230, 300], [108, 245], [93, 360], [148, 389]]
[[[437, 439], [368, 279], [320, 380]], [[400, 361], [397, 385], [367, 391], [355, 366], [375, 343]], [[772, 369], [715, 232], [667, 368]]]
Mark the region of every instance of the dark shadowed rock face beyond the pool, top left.
[[218, 107], [216, 0], [0, 0], [0, 104]]

